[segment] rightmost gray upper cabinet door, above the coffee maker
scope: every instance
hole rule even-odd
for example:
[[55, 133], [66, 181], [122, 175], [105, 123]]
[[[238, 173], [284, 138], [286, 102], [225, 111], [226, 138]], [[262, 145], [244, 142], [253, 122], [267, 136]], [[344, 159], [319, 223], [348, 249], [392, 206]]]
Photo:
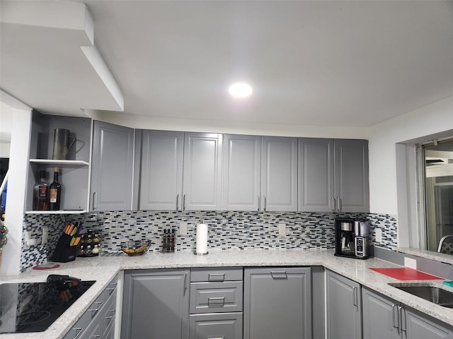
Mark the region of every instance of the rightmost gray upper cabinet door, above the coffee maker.
[[368, 141], [335, 141], [335, 191], [341, 212], [369, 212]]

